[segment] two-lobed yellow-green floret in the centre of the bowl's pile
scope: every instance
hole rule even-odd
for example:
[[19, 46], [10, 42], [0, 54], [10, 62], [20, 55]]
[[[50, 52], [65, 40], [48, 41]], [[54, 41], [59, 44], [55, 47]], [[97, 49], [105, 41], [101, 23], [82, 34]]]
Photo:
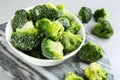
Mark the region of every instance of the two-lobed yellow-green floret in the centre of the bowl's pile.
[[49, 19], [41, 19], [36, 22], [36, 28], [43, 30], [45, 36], [52, 40], [58, 41], [62, 33], [64, 32], [64, 27], [58, 21], [51, 22]]

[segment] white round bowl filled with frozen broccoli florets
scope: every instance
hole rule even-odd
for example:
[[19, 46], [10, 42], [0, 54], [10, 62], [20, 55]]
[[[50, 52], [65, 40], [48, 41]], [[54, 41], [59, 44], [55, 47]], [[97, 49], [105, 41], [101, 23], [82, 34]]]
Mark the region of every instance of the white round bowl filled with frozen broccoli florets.
[[[30, 8], [32, 8], [32, 7], [26, 8], [26, 10], [29, 10]], [[67, 11], [67, 12], [69, 12], [69, 11]], [[77, 21], [80, 25], [82, 25], [81, 21], [74, 14], [72, 14], [71, 12], [69, 12], [69, 13], [72, 15], [72, 17], [75, 21]], [[37, 66], [53, 66], [53, 65], [57, 65], [57, 64], [64, 62], [66, 59], [75, 55], [80, 50], [80, 48], [83, 46], [84, 41], [85, 41], [85, 29], [84, 29], [84, 26], [82, 25], [82, 28], [79, 31], [79, 34], [81, 34], [83, 36], [82, 43], [80, 44], [80, 46], [76, 50], [70, 52], [68, 55], [65, 55], [62, 60], [49, 60], [49, 59], [34, 58], [34, 57], [29, 56], [29, 55], [23, 53], [22, 51], [16, 49], [11, 44], [10, 40], [11, 40], [11, 35], [13, 33], [12, 26], [11, 26], [11, 20], [12, 20], [12, 18], [8, 21], [7, 26], [6, 26], [6, 30], [5, 30], [5, 36], [6, 36], [6, 40], [9, 44], [9, 46], [16, 52], [15, 54], [20, 55], [27, 62], [34, 64], [34, 65], [37, 65]]]

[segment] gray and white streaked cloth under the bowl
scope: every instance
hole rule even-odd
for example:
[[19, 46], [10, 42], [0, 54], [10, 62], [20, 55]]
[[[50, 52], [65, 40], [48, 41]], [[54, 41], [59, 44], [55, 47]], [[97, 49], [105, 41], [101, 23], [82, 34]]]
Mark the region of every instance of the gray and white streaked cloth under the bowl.
[[[83, 71], [89, 64], [81, 62], [76, 55], [51, 67], [35, 66], [24, 61], [6, 42], [4, 34], [6, 24], [0, 25], [0, 80], [64, 80], [65, 74], [69, 71], [85, 78]], [[91, 41], [87, 35], [86, 41]], [[105, 52], [98, 63], [108, 72], [107, 80], [114, 80], [110, 61]]]

